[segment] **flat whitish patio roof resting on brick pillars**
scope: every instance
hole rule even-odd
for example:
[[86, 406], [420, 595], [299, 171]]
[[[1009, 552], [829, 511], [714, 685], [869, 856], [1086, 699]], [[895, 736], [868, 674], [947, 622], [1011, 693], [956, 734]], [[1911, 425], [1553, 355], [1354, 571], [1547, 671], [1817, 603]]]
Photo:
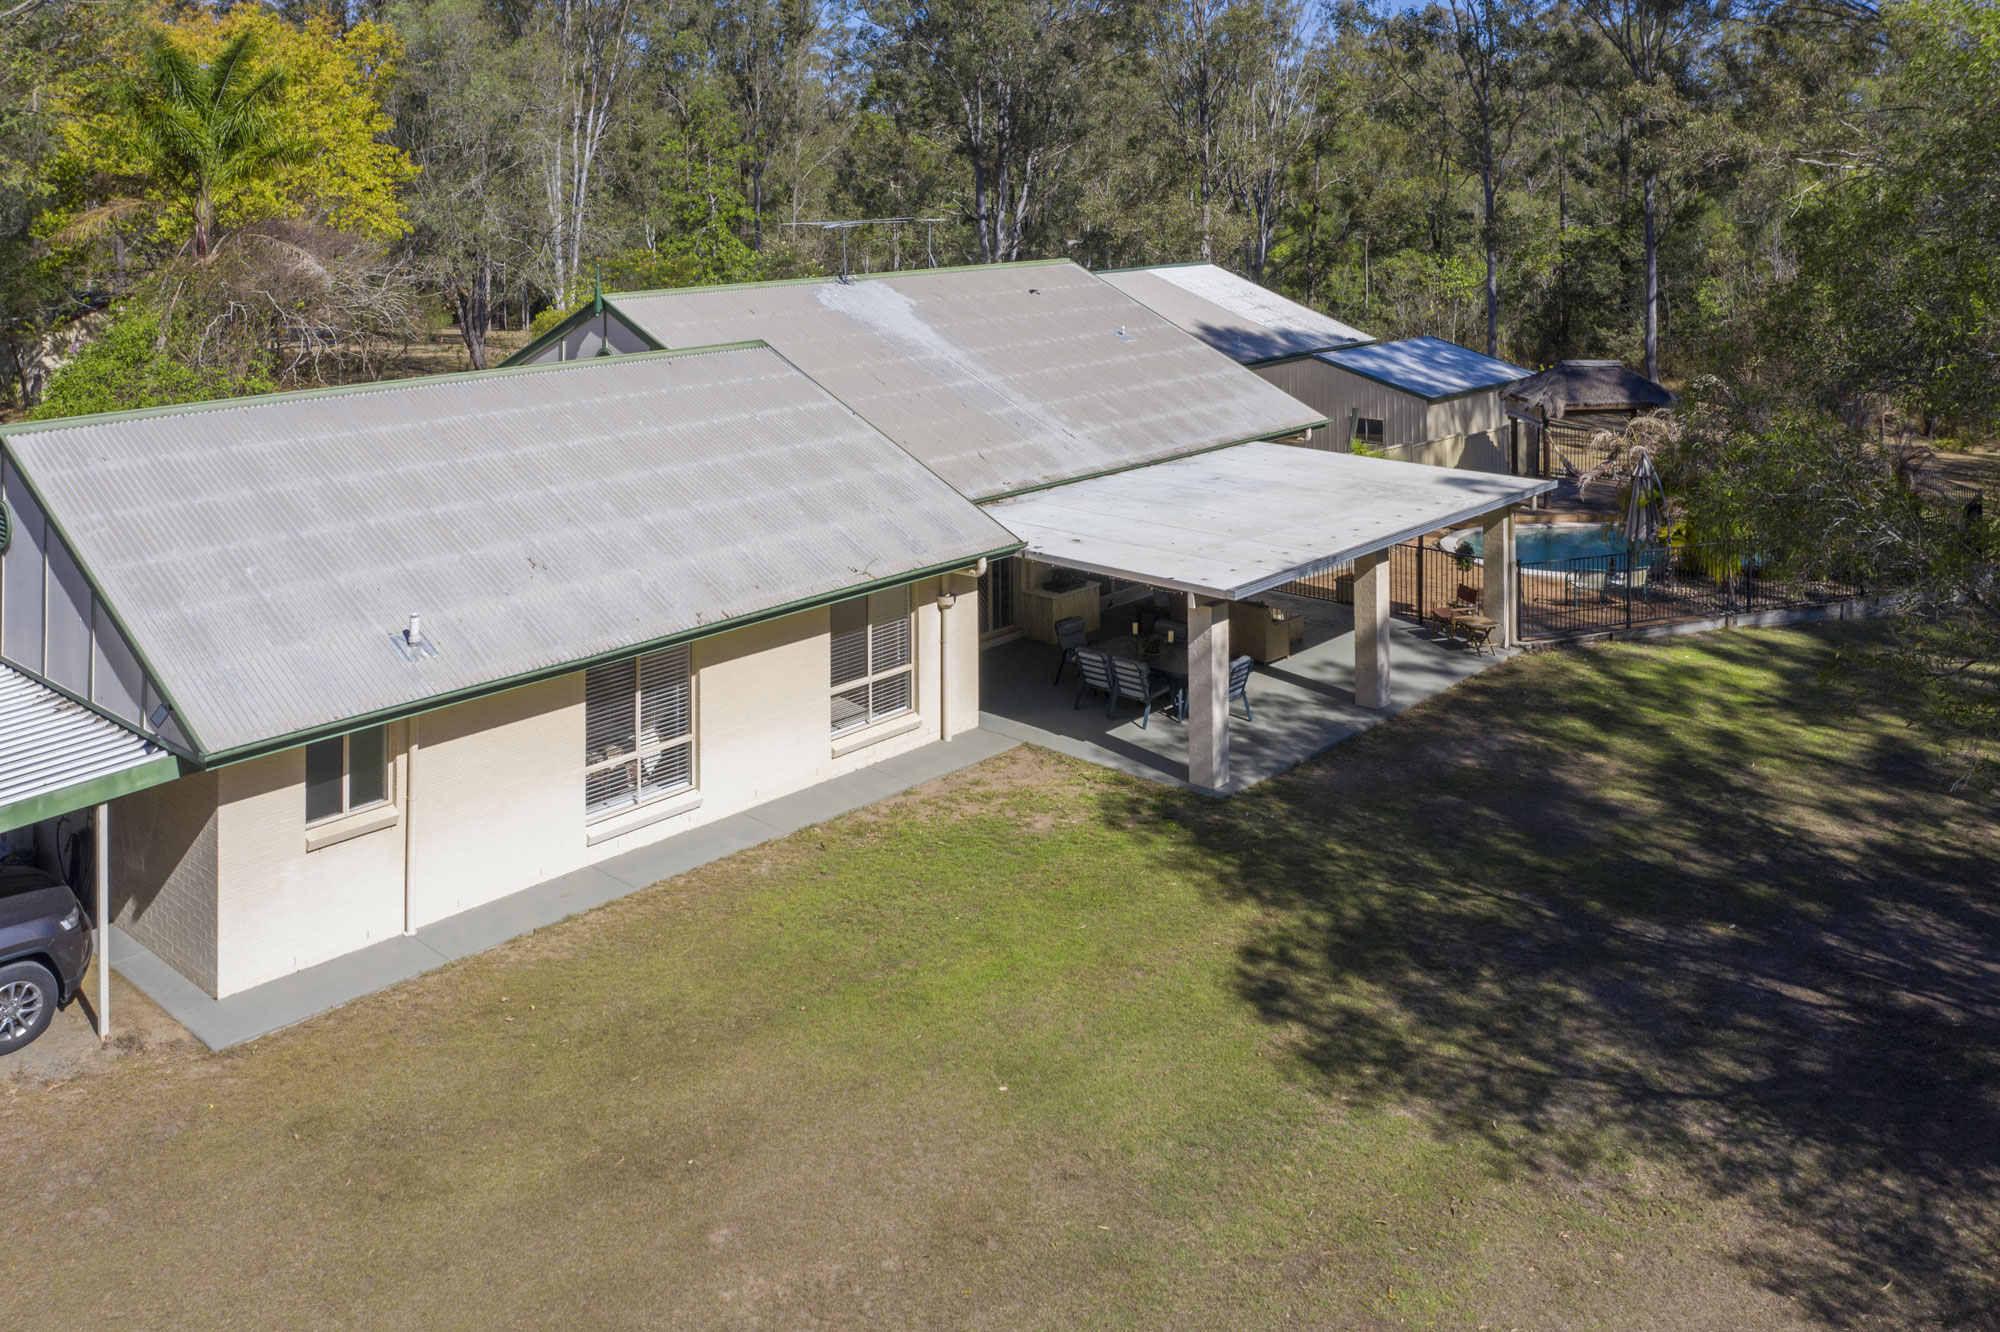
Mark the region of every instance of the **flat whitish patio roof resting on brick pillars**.
[[1240, 600], [1556, 482], [1238, 444], [988, 506], [1036, 560]]

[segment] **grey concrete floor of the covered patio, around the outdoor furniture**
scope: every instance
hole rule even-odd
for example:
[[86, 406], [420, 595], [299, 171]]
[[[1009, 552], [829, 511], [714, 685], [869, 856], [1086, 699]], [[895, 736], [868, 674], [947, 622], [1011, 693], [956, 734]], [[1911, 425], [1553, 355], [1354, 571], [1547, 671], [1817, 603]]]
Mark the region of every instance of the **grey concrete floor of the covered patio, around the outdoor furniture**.
[[[1408, 620], [1390, 620], [1390, 680], [1394, 706], [1372, 712], [1354, 702], [1354, 608], [1304, 596], [1266, 594], [1306, 616], [1306, 638], [1282, 662], [1260, 664], [1250, 676], [1250, 710], [1230, 706], [1230, 782], [1224, 796], [1256, 786], [1302, 764], [1320, 750], [1358, 736], [1376, 722], [1442, 694], [1512, 652], [1474, 652], [1444, 644]], [[1118, 612], [1112, 612], [1116, 616]], [[1188, 788], [1188, 728], [1172, 712], [1138, 724], [1138, 706], [1124, 702], [1104, 716], [1104, 698], [1076, 706], [1076, 668], [1050, 684], [1056, 648], [1016, 640], [988, 648], [980, 662], [980, 726], [1040, 744], [1072, 758], [1132, 776]]]

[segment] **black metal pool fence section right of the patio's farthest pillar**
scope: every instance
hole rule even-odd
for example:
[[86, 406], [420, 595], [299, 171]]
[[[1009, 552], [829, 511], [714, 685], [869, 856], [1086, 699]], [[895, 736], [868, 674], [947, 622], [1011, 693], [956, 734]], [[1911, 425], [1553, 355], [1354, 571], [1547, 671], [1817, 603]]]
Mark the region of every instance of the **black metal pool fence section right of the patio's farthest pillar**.
[[1846, 582], [1780, 576], [1726, 546], [1640, 546], [1572, 560], [1520, 562], [1516, 570], [1522, 638], [1572, 638], [1824, 606], [1860, 592]]

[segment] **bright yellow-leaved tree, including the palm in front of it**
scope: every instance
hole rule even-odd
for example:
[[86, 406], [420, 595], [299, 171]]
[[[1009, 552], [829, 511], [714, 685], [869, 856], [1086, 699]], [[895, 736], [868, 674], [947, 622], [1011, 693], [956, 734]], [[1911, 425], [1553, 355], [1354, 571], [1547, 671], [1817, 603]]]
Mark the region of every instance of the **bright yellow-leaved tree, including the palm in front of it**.
[[148, 24], [134, 34], [118, 88], [70, 98], [62, 160], [68, 208], [48, 232], [146, 210], [160, 236], [206, 256], [228, 230], [268, 218], [312, 220], [394, 240], [408, 230], [398, 188], [416, 174], [382, 90], [396, 32], [340, 32], [254, 8]]

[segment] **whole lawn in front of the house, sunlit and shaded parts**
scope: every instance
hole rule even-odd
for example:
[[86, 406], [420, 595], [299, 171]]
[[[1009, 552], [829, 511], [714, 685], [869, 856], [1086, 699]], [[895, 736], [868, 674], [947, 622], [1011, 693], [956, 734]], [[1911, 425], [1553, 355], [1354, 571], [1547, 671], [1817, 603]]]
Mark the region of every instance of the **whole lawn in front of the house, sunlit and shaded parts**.
[[0, 1278], [64, 1328], [1994, 1326], [2000, 836], [1832, 640], [1520, 658], [1230, 802], [1014, 750], [12, 1080]]

